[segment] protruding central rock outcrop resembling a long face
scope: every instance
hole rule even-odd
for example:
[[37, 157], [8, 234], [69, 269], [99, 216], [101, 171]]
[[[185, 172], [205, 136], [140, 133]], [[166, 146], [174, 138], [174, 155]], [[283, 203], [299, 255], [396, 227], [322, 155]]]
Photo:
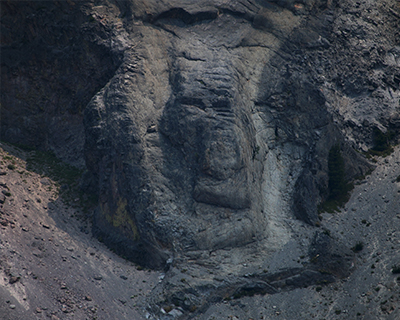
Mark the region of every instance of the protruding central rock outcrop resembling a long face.
[[[316, 221], [327, 152], [341, 137], [321, 92], [281, 48], [289, 35], [326, 45], [293, 30], [329, 5], [125, 3], [123, 62], [85, 110], [101, 238], [160, 267], [257, 239], [281, 246], [293, 197], [298, 215]], [[363, 170], [348, 166], [350, 176]]]

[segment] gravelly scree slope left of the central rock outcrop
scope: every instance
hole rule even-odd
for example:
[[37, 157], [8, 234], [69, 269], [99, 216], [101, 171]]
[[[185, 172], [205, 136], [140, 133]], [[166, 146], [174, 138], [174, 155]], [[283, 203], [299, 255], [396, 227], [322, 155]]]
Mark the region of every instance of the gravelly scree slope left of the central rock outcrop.
[[0, 149], [0, 318], [142, 319], [159, 273], [137, 270], [92, 238], [83, 213], [27, 154]]

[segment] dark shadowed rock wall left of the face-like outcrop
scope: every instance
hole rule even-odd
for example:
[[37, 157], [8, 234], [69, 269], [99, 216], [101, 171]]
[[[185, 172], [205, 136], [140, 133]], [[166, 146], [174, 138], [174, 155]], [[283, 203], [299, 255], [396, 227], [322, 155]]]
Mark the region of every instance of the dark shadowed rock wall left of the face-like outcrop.
[[85, 167], [82, 113], [121, 46], [110, 48], [110, 28], [82, 4], [5, 1], [1, 10], [1, 139]]

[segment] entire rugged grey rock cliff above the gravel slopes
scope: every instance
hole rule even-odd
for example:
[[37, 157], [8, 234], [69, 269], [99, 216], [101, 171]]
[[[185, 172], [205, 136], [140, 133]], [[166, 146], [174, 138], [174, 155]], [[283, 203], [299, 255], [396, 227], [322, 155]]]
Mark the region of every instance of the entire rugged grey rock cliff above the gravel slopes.
[[[351, 181], [373, 167], [360, 152], [376, 135], [398, 139], [397, 1], [7, 2], [3, 14], [2, 138], [87, 169], [94, 233], [174, 270], [153, 305], [204, 311], [349, 275], [353, 253], [318, 229], [317, 207], [332, 147]], [[298, 255], [310, 263], [284, 262]]]

